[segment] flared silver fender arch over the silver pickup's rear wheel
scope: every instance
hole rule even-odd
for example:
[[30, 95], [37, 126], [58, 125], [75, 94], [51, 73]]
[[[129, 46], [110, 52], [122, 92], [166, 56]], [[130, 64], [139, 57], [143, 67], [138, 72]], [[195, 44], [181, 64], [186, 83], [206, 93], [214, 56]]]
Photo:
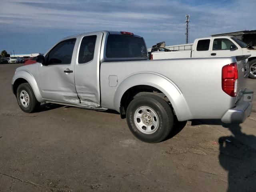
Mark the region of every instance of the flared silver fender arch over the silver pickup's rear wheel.
[[188, 104], [178, 86], [165, 76], [152, 72], [133, 74], [122, 81], [114, 96], [115, 110], [120, 111], [123, 94], [129, 88], [138, 85], [152, 86], [163, 92], [170, 100], [179, 121], [188, 120], [192, 117]]

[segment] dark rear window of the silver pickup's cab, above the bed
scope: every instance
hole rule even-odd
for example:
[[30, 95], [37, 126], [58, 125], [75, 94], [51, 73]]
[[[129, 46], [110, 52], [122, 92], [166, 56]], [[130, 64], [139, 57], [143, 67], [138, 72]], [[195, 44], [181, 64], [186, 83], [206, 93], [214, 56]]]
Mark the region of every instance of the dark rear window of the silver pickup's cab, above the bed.
[[108, 35], [106, 58], [140, 58], [148, 59], [148, 52], [143, 38], [124, 35]]

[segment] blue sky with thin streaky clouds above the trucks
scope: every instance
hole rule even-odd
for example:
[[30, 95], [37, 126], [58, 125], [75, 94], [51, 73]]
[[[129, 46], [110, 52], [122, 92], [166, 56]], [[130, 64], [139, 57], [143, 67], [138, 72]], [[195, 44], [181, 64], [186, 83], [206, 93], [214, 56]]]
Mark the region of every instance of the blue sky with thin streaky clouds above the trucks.
[[0, 0], [0, 51], [44, 53], [73, 34], [134, 32], [148, 48], [185, 43], [211, 34], [255, 30], [256, 0]]

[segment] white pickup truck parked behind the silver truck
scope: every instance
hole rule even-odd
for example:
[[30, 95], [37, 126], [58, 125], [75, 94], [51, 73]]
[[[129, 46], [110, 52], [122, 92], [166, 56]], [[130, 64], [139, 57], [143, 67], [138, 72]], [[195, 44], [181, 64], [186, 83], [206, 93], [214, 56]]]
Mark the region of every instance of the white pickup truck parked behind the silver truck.
[[[251, 55], [249, 77], [256, 79], [256, 49], [232, 36], [198, 38], [193, 46], [180, 46], [181, 50], [157, 51], [151, 53], [151, 59], [199, 58]], [[182, 50], [182, 48], [184, 49]], [[190, 49], [190, 47], [192, 47]]]

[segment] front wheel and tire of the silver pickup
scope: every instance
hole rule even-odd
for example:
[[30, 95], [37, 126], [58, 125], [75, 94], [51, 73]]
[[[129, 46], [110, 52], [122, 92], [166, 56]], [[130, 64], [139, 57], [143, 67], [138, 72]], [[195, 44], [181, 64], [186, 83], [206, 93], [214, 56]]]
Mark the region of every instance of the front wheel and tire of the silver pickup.
[[[29, 83], [22, 83], [18, 86], [16, 98], [21, 110], [26, 113], [36, 112], [40, 108], [40, 102], [36, 100]], [[28, 98], [28, 100], [26, 100], [26, 98]]]

